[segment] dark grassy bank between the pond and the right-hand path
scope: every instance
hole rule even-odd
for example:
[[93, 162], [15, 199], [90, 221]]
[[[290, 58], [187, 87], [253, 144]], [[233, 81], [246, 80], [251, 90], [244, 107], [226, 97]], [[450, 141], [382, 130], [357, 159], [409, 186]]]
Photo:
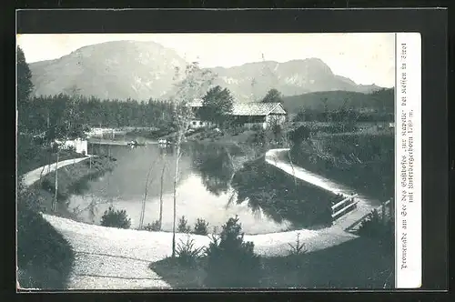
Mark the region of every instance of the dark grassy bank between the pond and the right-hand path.
[[326, 227], [331, 224], [331, 198], [326, 191], [293, 179], [268, 166], [264, 158], [245, 165], [233, 177], [236, 203], [247, 203], [274, 221], [290, 221], [294, 227]]

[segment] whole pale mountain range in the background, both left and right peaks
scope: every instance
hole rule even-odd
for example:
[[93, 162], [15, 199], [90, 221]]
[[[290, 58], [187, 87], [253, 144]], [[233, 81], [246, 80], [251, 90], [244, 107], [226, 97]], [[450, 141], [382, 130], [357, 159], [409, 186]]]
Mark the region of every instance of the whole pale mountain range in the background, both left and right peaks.
[[[72, 94], [103, 99], [147, 100], [175, 93], [176, 67], [187, 62], [154, 42], [116, 41], [88, 45], [59, 59], [30, 64], [35, 96]], [[284, 96], [318, 91], [368, 93], [378, 86], [357, 85], [334, 75], [318, 58], [248, 63], [207, 68], [217, 75], [214, 84], [227, 87], [239, 101], [255, 101], [275, 87]]]

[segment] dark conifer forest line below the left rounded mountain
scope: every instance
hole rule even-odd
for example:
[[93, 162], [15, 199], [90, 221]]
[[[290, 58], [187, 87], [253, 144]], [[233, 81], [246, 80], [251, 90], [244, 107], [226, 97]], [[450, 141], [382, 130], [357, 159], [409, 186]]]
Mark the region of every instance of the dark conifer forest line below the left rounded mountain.
[[167, 101], [101, 100], [94, 96], [35, 96], [21, 101], [20, 130], [41, 133], [71, 121], [90, 127], [171, 127], [172, 104]]

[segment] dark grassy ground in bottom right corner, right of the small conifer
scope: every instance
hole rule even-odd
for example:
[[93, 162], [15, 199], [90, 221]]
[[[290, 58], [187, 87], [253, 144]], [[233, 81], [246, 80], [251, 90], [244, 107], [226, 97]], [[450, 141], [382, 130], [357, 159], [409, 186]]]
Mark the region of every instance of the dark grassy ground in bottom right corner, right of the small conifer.
[[[392, 254], [378, 242], [359, 237], [313, 253], [264, 259], [263, 287], [359, 288], [393, 287]], [[353, 270], [355, 268], [355, 271]]]

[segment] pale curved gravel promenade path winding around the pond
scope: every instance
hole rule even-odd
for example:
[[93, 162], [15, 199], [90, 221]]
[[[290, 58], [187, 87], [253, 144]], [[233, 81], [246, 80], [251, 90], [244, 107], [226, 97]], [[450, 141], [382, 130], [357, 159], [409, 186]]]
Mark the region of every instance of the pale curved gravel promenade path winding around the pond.
[[[292, 166], [283, 160], [287, 149], [274, 149], [267, 153], [266, 161], [283, 171], [308, 181], [316, 186], [335, 192], [344, 192], [342, 186], [329, 180], [310, 174], [308, 171]], [[62, 161], [58, 167], [71, 165], [85, 158]], [[45, 166], [43, 175], [56, 169], [56, 165]], [[39, 179], [43, 167], [25, 175], [25, 184], [32, 185]], [[290, 172], [289, 172], [290, 171]], [[319, 184], [319, 185], [318, 185]], [[348, 192], [348, 191], [346, 191]], [[351, 192], [349, 192], [351, 193]], [[356, 212], [338, 220], [332, 227], [318, 230], [294, 230], [262, 235], [246, 235], [245, 240], [255, 244], [255, 251], [263, 256], [288, 255], [288, 244], [296, 242], [297, 235], [305, 240], [308, 252], [333, 247], [357, 236], [345, 231], [345, 227], [354, 222], [372, 208], [372, 203], [365, 199]], [[148, 232], [114, 227], [100, 227], [74, 220], [43, 214], [45, 219], [58, 230], [75, 251], [76, 259], [73, 272], [69, 277], [71, 289], [134, 289], [134, 288], [170, 288], [154, 271], [148, 268], [150, 262], [170, 256], [172, 233]], [[186, 241], [188, 235], [177, 234]], [[209, 238], [189, 235], [195, 240], [196, 247], [207, 247]]]

